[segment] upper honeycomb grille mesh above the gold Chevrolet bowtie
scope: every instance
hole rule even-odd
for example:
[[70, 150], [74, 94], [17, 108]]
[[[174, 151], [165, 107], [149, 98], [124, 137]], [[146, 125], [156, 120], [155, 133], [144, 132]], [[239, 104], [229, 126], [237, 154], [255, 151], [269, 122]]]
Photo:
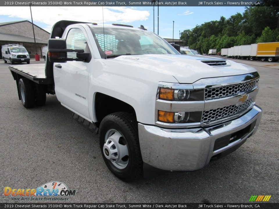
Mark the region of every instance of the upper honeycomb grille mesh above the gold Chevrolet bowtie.
[[219, 99], [235, 96], [239, 93], [252, 90], [257, 85], [257, 80], [247, 83], [205, 89], [205, 100]]

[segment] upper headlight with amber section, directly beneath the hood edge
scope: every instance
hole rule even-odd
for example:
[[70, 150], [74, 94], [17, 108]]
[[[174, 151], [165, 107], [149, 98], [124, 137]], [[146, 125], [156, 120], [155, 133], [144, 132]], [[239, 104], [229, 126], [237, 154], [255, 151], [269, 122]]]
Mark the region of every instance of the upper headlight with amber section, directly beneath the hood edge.
[[168, 101], [203, 101], [203, 89], [169, 89], [160, 87], [159, 99]]

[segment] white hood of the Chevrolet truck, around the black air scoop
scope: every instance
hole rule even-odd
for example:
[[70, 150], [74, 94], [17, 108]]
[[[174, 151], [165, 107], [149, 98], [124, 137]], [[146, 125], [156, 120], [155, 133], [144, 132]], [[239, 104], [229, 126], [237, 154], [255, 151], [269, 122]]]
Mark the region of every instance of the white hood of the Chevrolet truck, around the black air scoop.
[[[112, 58], [113, 62], [129, 63], [144, 67], [150, 71], [174, 76], [179, 83], [194, 83], [202, 78], [242, 75], [255, 72], [253, 67], [225, 60], [226, 65], [210, 66], [211, 61], [222, 61], [216, 57], [202, 55], [122, 55]], [[207, 64], [205, 63], [207, 62]], [[168, 81], [164, 81], [168, 82]]]

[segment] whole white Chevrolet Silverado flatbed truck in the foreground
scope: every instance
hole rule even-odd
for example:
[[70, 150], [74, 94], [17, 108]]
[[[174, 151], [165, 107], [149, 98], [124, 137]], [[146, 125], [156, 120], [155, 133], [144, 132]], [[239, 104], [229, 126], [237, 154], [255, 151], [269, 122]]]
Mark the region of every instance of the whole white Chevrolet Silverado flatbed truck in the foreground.
[[46, 64], [9, 67], [19, 100], [31, 108], [56, 94], [99, 133], [103, 159], [123, 181], [152, 169], [201, 169], [260, 123], [254, 68], [180, 55], [143, 26], [59, 21], [48, 47]]

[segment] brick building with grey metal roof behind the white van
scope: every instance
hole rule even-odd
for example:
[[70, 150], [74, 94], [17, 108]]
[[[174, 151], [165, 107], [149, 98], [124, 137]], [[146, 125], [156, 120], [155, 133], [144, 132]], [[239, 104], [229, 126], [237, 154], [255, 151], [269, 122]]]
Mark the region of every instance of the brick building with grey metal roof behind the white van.
[[[34, 24], [37, 53], [42, 57], [42, 47], [47, 45], [50, 33]], [[0, 23], [0, 46], [6, 44], [20, 44], [31, 51], [30, 57], [34, 58], [36, 49], [32, 23], [28, 20]], [[0, 53], [2, 59], [2, 54]]]

